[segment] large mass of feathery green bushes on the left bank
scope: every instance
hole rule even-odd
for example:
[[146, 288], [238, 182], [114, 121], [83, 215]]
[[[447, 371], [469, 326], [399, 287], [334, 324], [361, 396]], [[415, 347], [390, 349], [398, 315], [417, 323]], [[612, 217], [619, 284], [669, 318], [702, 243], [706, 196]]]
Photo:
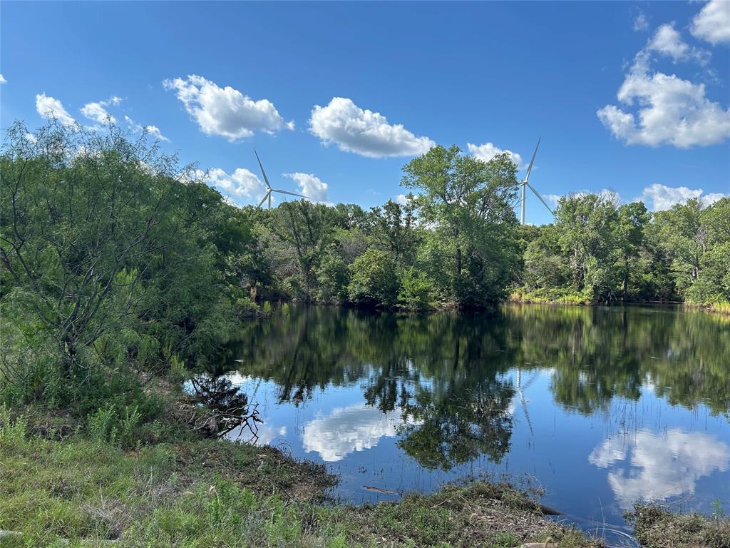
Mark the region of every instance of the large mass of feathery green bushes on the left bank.
[[6, 398], [126, 400], [253, 306], [248, 214], [145, 140], [17, 125], [0, 162]]

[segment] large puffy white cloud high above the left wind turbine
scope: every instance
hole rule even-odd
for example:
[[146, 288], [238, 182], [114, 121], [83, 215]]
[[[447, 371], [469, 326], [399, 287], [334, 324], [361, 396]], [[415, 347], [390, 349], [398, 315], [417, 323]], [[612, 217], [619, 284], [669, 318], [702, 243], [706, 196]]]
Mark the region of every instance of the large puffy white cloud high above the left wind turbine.
[[294, 129], [294, 123], [286, 122], [268, 99], [254, 101], [228, 85], [220, 88], [215, 82], [196, 75], [185, 80], [164, 80], [163, 85], [177, 92], [177, 99], [205, 134], [235, 141], [251, 137], [254, 132]]

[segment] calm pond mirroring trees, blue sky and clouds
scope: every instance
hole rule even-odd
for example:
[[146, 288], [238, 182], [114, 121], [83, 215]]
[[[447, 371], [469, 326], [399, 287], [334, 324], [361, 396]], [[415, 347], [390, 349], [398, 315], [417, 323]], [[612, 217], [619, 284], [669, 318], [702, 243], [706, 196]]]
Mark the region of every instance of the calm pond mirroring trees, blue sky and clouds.
[[614, 544], [639, 499], [730, 511], [727, 317], [285, 306], [247, 325], [220, 372], [258, 403], [258, 443], [328, 464], [345, 501], [507, 474]]

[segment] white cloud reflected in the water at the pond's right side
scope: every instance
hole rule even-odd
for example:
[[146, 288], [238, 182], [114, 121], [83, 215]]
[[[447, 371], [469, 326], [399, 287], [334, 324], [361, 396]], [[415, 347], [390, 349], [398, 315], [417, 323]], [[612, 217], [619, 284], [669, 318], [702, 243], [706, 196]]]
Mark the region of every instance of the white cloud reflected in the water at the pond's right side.
[[639, 499], [661, 501], [694, 493], [698, 479], [728, 470], [730, 446], [701, 432], [639, 430], [628, 439], [607, 438], [593, 449], [588, 462], [611, 468], [608, 482], [626, 509]]

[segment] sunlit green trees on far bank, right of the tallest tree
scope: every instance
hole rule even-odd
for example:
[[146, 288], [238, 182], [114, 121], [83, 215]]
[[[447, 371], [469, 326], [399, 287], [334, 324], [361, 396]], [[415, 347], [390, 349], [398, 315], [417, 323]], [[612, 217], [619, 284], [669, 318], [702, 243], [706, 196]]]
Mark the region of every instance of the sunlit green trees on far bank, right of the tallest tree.
[[554, 224], [522, 229], [523, 297], [730, 301], [730, 198], [650, 213], [642, 202], [576, 194], [560, 199]]

